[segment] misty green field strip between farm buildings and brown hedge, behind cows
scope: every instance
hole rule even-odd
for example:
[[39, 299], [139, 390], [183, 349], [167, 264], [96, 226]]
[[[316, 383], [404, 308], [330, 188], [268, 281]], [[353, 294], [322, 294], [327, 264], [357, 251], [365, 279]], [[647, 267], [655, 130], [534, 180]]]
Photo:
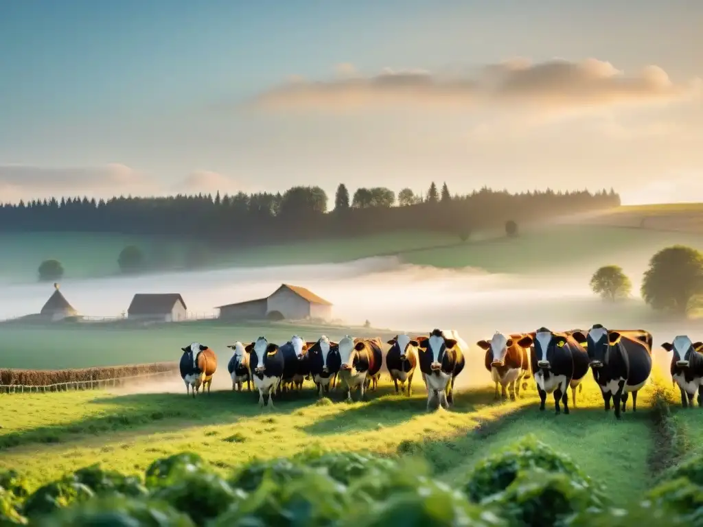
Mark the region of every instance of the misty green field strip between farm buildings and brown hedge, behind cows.
[[387, 331], [288, 324], [226, 325], [217, 321], [171, 323], [139, 327], [120, 323], [22, 325], [0, 324], [0, 367], [58, 370], [93, 366], [155, 363], [181, 358], [181, 348], [193, 341], [207, 344], [219, 355], [221, 367], [231, 357], [228, 344], [254, 341], [264, 335], [278, 344], [293, 334], [306, 339], [354, 333], [355, 337], [392, 337]]

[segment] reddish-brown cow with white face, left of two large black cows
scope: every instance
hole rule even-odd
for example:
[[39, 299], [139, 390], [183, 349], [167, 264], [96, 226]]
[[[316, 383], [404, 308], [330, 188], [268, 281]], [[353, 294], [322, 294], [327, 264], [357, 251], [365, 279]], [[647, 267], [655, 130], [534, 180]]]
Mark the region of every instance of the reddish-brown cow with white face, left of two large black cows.
[[505, 337], [501, 332], [496, 332], [490, 341], [479, 340], [476, 344], [486, 351], [486, 370], [491, 373], [491, 379], [496, 383], [496, 396], [498, 398], [498, 384], [501, 385], [501, 396], [515, 401], [520, 397], [520, 383], [522, 389], [527, 389], [527, 383], [523, 379], [529, 379], [529, 348], [523, 348], [518, 344], [524, 337], [521, 333], [510, 334]]

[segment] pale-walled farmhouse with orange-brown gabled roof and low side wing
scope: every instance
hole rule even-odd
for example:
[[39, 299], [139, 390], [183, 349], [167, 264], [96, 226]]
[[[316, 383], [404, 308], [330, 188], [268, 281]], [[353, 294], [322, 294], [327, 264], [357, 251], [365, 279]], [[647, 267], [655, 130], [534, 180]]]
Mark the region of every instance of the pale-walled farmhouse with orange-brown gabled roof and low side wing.
[[332, 318], [332, 304], [305, 287], [281, 284], [268, 297], [217, 306], [222, 320]]

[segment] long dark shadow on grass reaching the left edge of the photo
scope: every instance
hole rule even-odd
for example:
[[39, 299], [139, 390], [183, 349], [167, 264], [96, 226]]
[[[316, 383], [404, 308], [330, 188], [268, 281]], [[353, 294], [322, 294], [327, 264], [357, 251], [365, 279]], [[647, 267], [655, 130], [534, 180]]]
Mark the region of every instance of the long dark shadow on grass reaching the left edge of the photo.
[[[46, 394], [47, 397], [60, 394]], [[309, 405], [315, 399], [313, 390], [284, 394], [274, 400], [276, 409], [290, 412]], [[0, 436], [0, 452], [31, 443], [66, 443], [86, 435], [101, 436], [110, 432], [146, 429], [157, 426], [159, 431], [177, 431], [184, 426], [232, 424], [243, 417], [260, 415], [257, 392], [213, 391], [196, 398], [185, 393], [138, 393], [128, 396], [96, 398], [91, 405], [109, 405], [96, 408], [99, 415], [52, 424]], [[268, 410], [264, 410], [268, 411]], [[274, 410], [275, 411], [275, 410]], [[191, 425], [184, 425], [187, 422]]]

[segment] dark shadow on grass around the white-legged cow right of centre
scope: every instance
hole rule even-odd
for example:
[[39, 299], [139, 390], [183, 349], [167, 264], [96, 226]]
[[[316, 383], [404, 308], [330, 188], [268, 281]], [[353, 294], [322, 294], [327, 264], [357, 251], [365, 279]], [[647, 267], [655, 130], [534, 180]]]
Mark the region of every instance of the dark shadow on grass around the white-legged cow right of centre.
[[[378, 429], [378, 425], [392, 427], [409, 421], [416, 415], [427, 413], [427, 396], [406, 397], [396, 396], [392, 389], [381, 389], [370, 392], [366, 404], [349, 405], [343, 411], [321, 419], [314, 424], [304, 427], [304, 431], [314, 435], [339, 434], [348, 431], [363, 431]], [[384, 396], [384, 393], [389, 395]], [[473, 389], [458, 392], [454, 396], [452, 412], [474, 412], [479, 406], [493, 402], [492, 389]], [[342, 396], [343, 397], [343, 396]], [[338, 403], [346, 405], [346, 403]]]

